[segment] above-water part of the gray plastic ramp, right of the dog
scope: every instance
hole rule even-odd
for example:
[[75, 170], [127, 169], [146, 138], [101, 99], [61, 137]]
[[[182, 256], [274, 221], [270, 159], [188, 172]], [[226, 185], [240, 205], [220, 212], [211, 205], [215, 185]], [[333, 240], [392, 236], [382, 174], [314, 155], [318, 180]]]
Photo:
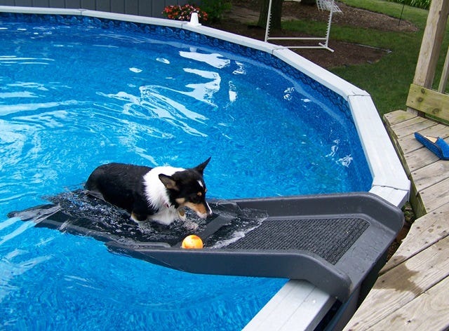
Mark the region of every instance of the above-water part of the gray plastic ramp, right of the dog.
[[[111, 250], [192, 273], [304, 279], [344, 302], [403, 225], [403, 213], [373, 194], [218, 201], [203, 249], [107, 243]], [[255, 218], [248, 217], [249, 215]], [[219, 224], [218, 226], [215, 224]]]

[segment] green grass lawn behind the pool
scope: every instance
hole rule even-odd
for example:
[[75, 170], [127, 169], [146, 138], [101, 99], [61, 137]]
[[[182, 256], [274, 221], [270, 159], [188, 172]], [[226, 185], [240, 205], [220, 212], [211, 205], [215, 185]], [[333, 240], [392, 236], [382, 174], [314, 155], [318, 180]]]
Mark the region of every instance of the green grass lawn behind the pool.
[[[401, 4], [383, 0], [341, 0], [344, 4], [357, 8], [384, 13], [395, 18], [401, 16]], [[415, 75], [417, 57], [420, 52], [422, 34], [427, 21], [428, 11], [405, 6], [402, 19], [413, 22], [418, 32], [383, 32], [376, 29], [365, 29], [333, 24], [330, 29], [330, 39], [361, 43], [367, 46], [391, 50], [382, 60], [373, 64], [337, 67], [330, 71], [343, 79], [354, 83], [359, 88], [367, 90], [373, 97], [377, 110], [381, 115], [396, 109], [405, 109], [408, 89]], [[344, 15], [344, 13], [343, 13]], [[285, 22], [284, 29], [313, 32], [323, 31], [321, 22]], [[326, 25], [324, 25], [326, 29]], [[449, 37], [445, 36], [442, 55], [438, 67], [443, 66], [445, 52], [448, 50]], [[441, 69], [437, 69], [436, 83], [438, 86]]]

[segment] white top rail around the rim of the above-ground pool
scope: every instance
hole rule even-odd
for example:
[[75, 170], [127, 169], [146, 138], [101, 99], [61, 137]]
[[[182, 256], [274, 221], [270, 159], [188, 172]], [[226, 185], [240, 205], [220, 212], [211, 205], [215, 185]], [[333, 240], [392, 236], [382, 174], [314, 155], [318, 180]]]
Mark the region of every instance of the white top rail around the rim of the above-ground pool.
[[[370, 192], [398, 207], [401, 207], [408, 201], [410, 180], [408, 180], [403, 170], [401, 161], [399, 161], [387, 134], [387, 130], [384, 128], [369, 93], [344, 81], [344, 79], [319, 67], [319, 65], [302, 58], [302, 56], [297, 55], [288, 48], [210, 27], [203, 27], [202, 25], [189, 25], [188, 22], [161, 18], [147, 18], [84, 9], [18, 6], [0, 6], [0, 12], [81, 15], [93, 18], [177, 27], [270, 53], [300, 70], [300, 72], [307, 74], [307, 76], [323, 84], [323, 86], [334, 90], [344, 97], [344, 100], [347, 100], [354, 118], [354, 123], [356, 123], [358, 135], [361, 138], [371, 174], [373, 175], [373, 184]], [[330, 309], [333, 302], [335, 302], [333, 297], [330, 297], [307, 281], [288, 281], [262, 310], [257, 313], [253, 320], [246, 325], [244, 330], [314, 330], [316, 324], [319, 323], [323, 315]]]

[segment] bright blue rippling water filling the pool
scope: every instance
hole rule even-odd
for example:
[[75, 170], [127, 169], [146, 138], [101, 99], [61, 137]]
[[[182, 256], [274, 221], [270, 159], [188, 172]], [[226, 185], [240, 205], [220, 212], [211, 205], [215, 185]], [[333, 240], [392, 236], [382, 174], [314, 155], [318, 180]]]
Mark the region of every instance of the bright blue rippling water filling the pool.
[[102, 163], [212, 156], [210, 198], [370, 189], [348, 109], [282, 70], [135, 25], [23, 17], [0, 15], [5, 329], [241, 330], [286, 282], [173, 271], [6, 217]]

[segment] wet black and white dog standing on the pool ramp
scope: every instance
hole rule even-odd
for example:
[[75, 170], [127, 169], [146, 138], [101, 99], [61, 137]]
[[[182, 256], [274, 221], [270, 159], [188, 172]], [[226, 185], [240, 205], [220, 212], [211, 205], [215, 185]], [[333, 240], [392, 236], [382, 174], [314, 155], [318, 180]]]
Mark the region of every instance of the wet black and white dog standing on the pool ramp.
[[185, 207], [206, 218], [212, 215], [203, 180], [209, 161], [189, 169], [108, 163], [93, 170], [85, 187], [93, 196], [127, 210], [135, 222], [169, 225], [185, 220]]

